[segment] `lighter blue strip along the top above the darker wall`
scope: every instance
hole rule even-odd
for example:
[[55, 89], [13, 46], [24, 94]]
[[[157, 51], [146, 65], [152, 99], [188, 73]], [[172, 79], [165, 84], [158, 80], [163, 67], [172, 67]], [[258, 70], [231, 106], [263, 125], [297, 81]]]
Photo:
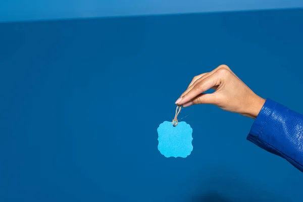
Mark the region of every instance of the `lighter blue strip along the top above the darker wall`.
[[7, 0], [0, 22], [303, 8], [302, 0]]

